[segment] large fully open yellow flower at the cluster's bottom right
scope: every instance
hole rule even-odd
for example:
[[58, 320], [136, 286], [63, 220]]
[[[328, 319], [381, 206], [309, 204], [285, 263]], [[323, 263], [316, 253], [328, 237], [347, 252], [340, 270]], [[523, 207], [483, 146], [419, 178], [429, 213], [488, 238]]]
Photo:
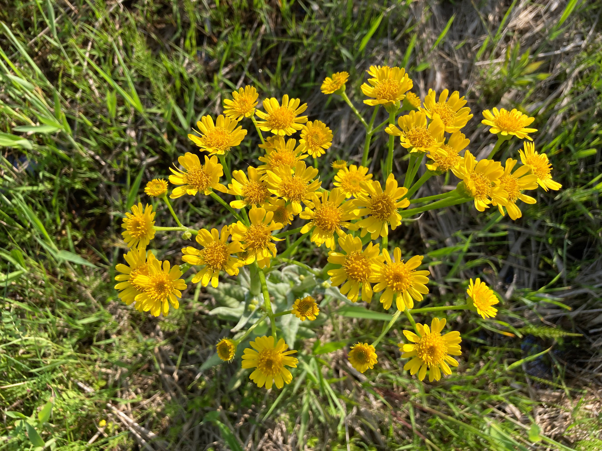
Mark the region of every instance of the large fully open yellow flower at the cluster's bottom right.
[[451, 366], [458, 366], [458, 361], [451, 357], [452, 355], [460, 355], [460, 333], [458, 331], [448, 332], [441, 335], [441, 331], [445, 326], [445, 318], [433, 318], [429, 326], [424, 324], [416, 324], [418, 334], [405, 330], [403, 334], [406, 339], [412, 343], [399, 343], [399, 348], [403, 351], [402, 358], [412, 357], [403, 366], [403, 369], [410, 370], [410, 374], [418, 373], [418, 379], [423, 380], [426, 376], [426, 370], [429, 369], [429, 381], [438, 381], [441, 379], [441, 372], [444, 375], [452, 374]]

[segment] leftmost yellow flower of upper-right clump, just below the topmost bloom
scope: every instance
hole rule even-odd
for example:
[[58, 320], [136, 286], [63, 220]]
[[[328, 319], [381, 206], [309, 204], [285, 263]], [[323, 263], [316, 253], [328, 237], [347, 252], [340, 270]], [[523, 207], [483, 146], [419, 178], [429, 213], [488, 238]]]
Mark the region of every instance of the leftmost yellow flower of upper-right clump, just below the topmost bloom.
[[386, 127], [385, 132], [399, 137], [402, 146], [409, 152], [431, 152], [441, 147], [444, 141], [445, 126], [438, 115], [435, 115], [427, 126], [424, 111], [410, 111], [405, 116], [397, 118], [398, 129], [393, 124]]

